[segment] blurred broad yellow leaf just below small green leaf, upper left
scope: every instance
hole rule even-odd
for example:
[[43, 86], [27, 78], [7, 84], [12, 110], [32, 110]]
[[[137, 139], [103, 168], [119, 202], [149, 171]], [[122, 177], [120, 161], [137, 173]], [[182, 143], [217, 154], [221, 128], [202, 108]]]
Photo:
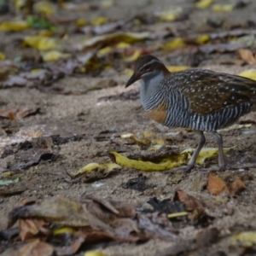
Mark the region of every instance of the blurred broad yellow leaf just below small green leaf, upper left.
[[40, 36], [30, 36], [24, 39], [24, 43], [36, 49], [53, 49], [58, 43], [55, 38], [40, 37]]

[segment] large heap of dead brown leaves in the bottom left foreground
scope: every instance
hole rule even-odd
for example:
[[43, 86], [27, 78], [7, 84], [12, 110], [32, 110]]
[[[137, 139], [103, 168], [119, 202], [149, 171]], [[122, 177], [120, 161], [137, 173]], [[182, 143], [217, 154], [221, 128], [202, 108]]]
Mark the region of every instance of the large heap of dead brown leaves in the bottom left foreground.
[[150, 238], [177, 239], [176, 230], [165, 213], [137, 213], [129, 202], [107, 201], [94, 196], [86, 197], [83, 203], [58, 197], [17, 207], [9, 213], [9, 226], [18, 219], [22, 240], [41, 237], [56, 244], [57, 236], [61, 236], [61, 233], [51, 240], [51, 227], [61, 225], [69, 227], [69, 230], [72, 228], [72, 242], [67, 239], [65, 246], [63, 241], [66, 240], [57, 242], [61, 244], [61, 247], [55, 247], [57, 255], [75, 253], [81, 244], [101, 240], [135, 242]]

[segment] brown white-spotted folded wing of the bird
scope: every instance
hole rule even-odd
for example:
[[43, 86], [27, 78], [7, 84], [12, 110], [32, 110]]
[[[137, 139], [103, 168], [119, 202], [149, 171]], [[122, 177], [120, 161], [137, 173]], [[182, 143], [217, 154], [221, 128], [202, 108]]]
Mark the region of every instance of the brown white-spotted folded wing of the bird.
[[169, 86], [185, 97], [191, 113], [215, 113], [250, 103], [256, 97], [256, 82], [252, 79], [200, 69], [172, 73], [171, 77]]

